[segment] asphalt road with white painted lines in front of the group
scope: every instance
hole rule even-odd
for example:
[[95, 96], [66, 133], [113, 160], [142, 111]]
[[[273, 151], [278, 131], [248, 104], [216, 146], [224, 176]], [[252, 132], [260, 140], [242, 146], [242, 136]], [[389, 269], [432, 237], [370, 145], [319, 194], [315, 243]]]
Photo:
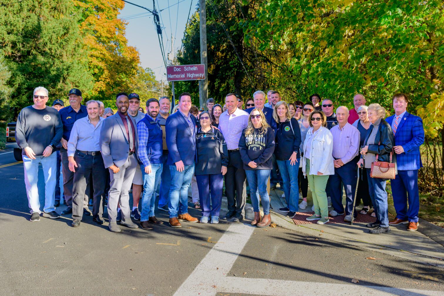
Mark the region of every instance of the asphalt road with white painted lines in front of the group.
[[154, 231], [111, 233], [91, 216], [77, 228], [71, 217], [32, 223], [23, 165], [4, 166], [16, 162], [8, 151], [0, 150], [2, 296], [444, 295], [440, 268], [279, 227], [173, 229], [161, 211], [166, 223]]

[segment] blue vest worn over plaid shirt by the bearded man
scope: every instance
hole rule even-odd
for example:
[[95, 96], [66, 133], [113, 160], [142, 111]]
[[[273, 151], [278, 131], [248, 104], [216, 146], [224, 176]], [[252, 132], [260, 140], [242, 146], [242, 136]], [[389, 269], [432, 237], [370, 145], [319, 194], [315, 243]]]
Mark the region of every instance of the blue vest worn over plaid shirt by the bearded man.
[[147, 141], [147, 153], [148, 158], [151, 163], [163, 163], [162, 153], [163, 153], [163, 139], [162, 139], [162, 128], [159, 125], [159, 121], [152, 120], [152, 118], [145, 115], [143, 119], [140, 120], [145, 123], [148, 129], [148, 141]]

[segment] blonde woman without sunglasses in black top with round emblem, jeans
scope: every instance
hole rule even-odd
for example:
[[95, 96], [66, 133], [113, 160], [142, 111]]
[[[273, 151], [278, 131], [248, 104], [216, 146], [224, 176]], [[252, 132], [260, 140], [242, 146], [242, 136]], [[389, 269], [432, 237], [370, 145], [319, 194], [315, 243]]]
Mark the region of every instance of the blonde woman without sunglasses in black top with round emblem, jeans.
[[299, 211], [299, 146], [301, 146], [301, 130], [296, 118], [291, 117], [287, 103], [279, 101], [274, 106], [273, 118], [277, 122], [274, 156], [282, 177], [285, 202], [287, 206], [279, 211], [288, 213], [293, 218]]

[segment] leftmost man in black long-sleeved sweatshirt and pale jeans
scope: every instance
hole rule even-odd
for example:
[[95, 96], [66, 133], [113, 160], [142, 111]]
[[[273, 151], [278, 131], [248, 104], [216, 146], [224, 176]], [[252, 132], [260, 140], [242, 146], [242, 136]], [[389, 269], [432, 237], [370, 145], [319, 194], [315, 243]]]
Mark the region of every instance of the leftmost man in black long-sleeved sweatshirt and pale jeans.
[[28, 195], [31, 219], [40, 221], [39, 201], [39, 164], [42, 165], [45, 178], [45, 206], [43, 217], [59, 218], [54, 207], [54, 191], [56, 188], [56, 145], [63, 134], [63, 126], [59, 111], [49, 106], [48, 90], [36, 87], [34, 105], [25, 107], [17, 118], [16, 142], [23, 150], [24, 179]]

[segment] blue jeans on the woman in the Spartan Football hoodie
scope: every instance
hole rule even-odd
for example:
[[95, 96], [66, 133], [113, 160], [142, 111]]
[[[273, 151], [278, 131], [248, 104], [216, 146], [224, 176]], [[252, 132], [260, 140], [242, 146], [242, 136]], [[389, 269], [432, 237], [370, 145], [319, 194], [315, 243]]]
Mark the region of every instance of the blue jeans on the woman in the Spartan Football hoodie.
[[259, 196], [262, 201], [264, 215], [270, 214], [270, 197], [267, 191], [267, 181], [270, 176], [270, 170], [245, 170], [247, 181], [250, 185], [250, 198], [253, 211], [259, 212]]

